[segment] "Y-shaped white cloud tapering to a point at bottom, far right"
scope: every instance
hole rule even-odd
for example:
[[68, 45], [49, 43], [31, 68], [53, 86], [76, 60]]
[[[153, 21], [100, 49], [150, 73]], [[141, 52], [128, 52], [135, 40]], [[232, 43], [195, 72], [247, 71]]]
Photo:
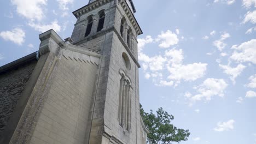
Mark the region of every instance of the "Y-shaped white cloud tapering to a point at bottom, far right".
[[246, 68], [246, 66], [242, 64], [238, 64], [237, 67], [235, 68], [232, 68], [229, 65], [222, 65], [222, 64], [219, 64], [219, 67], [224, 70], [223, 72], [225, 74], [230, 76], [230, 79], [234, 84], [235, 84], [236, 77], [239, 76], [242, 73], [243, 69]]

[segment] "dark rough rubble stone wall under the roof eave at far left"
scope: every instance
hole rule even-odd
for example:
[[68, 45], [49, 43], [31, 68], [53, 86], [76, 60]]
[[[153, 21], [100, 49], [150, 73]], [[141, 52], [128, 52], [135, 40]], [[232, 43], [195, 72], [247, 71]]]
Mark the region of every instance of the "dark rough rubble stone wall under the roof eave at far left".
[[36, 64], [34, 60], [0, 74], [0, 137]]

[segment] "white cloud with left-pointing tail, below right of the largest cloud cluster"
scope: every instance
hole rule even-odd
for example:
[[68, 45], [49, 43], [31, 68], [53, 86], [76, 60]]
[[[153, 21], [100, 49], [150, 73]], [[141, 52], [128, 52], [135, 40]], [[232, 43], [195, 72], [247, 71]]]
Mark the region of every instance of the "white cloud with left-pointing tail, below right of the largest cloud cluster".
[[224, 96], [224, 91], [228, 84], [223, 79], [206, 79], [202, 85], [195, 87], [199, 94], [190, 97], [191, 102], [206, 100], [210, 101], [213, 96], [219, 95], [220, 97]]

